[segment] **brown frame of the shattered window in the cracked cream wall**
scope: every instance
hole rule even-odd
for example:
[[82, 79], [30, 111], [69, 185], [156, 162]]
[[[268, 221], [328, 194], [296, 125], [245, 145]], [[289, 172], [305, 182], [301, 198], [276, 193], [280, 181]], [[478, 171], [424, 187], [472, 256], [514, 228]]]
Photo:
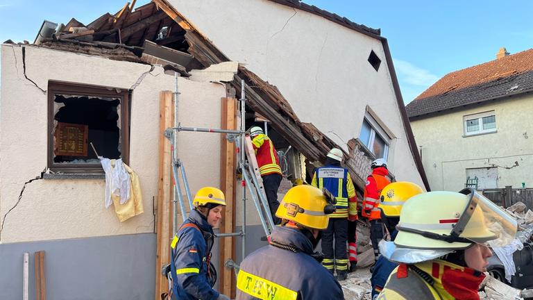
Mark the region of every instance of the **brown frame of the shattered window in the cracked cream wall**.
[[[54, 105], [53, 101], [56, 94], [71, 94], [76, 96], [95, 96], [95, 97], [115, 97], [120, 98], [120, 139], [121, 139], [121, 154], [122, 161], [129, 163], [130, 150], [130, 91], [122, 88], [106, 88], [98, 85], [85, 85], [82, 83], [65, 83], [58, 81], [49, 81], [48, 84], [48, 125], [46, 133], [46, 142], [48, 144], [47, 151], [47, 167], [52, 172], [62, 172], [69, 174], [86, 173], [86, 174], [103, 174], [103, 169], [100, 164], [87, 163], [70, 163], [60, 164], [53, 162], [53, 119], [54, 119]], [[87, 151], [93, 151], [90, 145]], [[98, 151], [98, 149], [96, 149]]]

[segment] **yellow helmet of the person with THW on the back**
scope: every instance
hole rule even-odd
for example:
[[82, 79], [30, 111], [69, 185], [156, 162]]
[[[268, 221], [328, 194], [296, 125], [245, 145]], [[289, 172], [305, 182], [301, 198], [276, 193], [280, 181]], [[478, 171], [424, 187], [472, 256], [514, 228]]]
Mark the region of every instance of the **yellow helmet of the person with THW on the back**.
[[296, 185], [291, 188], [276, 210], [276, 217], [294, 221], [314, 229], [328, 228], [331, 213], [335, 212], [335, 198], [311, 185]]

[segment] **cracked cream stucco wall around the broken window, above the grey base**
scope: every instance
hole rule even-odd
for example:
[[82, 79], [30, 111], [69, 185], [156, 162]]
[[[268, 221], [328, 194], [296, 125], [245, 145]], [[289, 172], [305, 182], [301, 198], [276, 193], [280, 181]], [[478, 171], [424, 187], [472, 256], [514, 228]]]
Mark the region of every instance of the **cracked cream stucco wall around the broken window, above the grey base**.
[[[24, 183], [46, 167], [47, 99], [24, 78], [22, 50], [1, 46], [0, 218], [15, 206]], [[129, 89], [149, 65], [65, 51], [26, 47], [26, 75], [46, 90], [48, 81]], [[183, 126], [220, 126], [223, 85], [179, 78]], [[144, 214], [120, 223], [104, 207], [105, 181], [48, 180], [28, 183], [22, 200], [3, 222], [1, 243], [153, 232], [153, 199], [158, 194], [159, 92], [174, 90], [174, 76], [155, 67], [131, 97], [130, 167], [139, 175]], [[192, 193], [219, 185], [220, 138], [179, 133], [180, 158]]]

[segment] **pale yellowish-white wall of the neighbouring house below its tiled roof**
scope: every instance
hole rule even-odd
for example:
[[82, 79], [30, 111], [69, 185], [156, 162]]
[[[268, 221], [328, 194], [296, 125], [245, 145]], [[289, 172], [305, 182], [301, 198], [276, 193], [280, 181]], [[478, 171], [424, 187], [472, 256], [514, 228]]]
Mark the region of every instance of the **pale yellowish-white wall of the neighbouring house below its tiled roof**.
[[[414, 120], [411, 126], [432, 190], [464, 188], [467, 168], [498, 165], [498, 188], [533, 185], [533, 97], [484, 103]], [[463, 116], [494, 110], [496, 133], [463, 137]], [[512, 167], [518, 162], [518, 167]], [[505, 167], [512, 167], [505, 169]]]

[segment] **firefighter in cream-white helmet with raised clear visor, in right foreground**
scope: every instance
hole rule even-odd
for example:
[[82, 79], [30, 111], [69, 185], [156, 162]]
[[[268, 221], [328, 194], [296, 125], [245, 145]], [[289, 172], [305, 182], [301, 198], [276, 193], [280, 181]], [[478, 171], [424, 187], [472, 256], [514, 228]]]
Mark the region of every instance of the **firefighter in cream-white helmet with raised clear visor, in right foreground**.
[[380, 244], [399, 263], [379, 300], [480, 299], [491, 250], [514, 240], [516, 220], [468, 188], [427, 192], [405, 202], [394, 242]]

